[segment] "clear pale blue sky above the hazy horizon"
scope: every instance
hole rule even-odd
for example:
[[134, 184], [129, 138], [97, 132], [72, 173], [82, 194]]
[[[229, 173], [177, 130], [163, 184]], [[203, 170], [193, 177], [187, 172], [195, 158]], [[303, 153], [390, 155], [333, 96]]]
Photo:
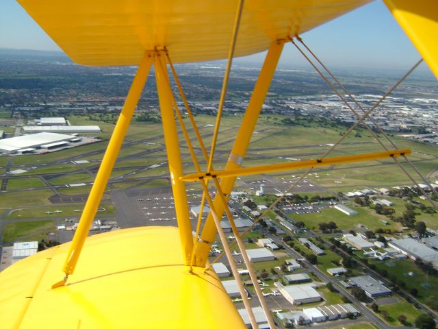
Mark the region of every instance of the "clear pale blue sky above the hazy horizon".
[[[381, 0], [321, 25], [302, 38], [330, 66], [408, 69], [420, 59]], [[0, 0], [0, 48], [61, 51], [15, 0]], [[248, 62], [262, 59], [263, 53], [244, 58]], [[305, 60], [287, 45], [280, 64], [302, 66]]]

